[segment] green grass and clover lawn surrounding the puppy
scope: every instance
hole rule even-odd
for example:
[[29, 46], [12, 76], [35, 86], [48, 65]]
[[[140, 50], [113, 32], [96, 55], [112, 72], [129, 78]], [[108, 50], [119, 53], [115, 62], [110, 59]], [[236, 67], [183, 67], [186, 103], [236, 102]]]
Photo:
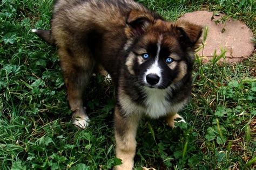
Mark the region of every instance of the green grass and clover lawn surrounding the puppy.
[[[255, 36], [254, 1], [140, 1], [167, 19], [194, 10], [221, 11], [243, 20]], [[0, 5], [0, 168], [109, 169], [114, 154], [113, 87], [92, 77], [85, 103], [90, 127], [77, 130], [56, 48], [30, 32], [49, 29], [52, 1], [3, 0]], [[217, 58], [218, 59], [218, 56]], [[237, 64], [194, 66], [187, 124], [169, 128], [144, 119], [136, 169], [253, 169], [256, 148], [256, 56]]]

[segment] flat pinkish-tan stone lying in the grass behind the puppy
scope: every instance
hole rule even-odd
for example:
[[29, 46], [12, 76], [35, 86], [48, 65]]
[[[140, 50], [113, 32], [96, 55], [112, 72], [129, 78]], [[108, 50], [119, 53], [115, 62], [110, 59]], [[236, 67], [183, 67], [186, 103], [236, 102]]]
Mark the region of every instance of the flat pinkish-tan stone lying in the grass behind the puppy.
[[226, 62], [240, 62], [247, 59], [254, 52], [254, 43], [251, 41], [252, 31], [243, 22], [232, 18], [228, 18], [224, 24], [221, 22], [215, 24], [214, 20], [218, 20], [222, 16], [224, 14], [213, 16], [213, 12], [195, 11], [186, 13], [179, 19], [208, 26], [204, 50], [201, 49], [197, 52], [199, 56], [206, 56], [203, 61], [211, 60], [214, 51], [216, 50], [218, 55], [221, 53], [221, 49], [226, 50]]

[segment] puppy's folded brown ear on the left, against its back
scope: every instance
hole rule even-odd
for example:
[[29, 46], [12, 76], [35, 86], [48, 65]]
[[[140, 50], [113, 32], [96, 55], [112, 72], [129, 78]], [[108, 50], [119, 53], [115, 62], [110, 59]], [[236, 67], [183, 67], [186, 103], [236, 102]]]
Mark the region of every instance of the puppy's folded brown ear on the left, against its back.
[[127, 27], [125, 34], [127, 37], [139, 37], [154, 22], [154, 19], [149, 13], [131, 10], [129, 17], [126, 20]]

